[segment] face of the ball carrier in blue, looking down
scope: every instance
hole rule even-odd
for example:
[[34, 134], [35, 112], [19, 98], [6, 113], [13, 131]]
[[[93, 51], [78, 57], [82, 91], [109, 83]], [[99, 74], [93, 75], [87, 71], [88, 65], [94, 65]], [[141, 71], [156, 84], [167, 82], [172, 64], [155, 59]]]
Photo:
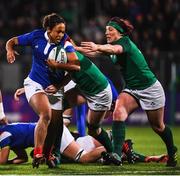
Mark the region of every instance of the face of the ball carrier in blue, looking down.
[[49, 30], [49, 38], [53, 43], [59, 43], [65, 34], [66, 26], [64, 23], [59, 23]]

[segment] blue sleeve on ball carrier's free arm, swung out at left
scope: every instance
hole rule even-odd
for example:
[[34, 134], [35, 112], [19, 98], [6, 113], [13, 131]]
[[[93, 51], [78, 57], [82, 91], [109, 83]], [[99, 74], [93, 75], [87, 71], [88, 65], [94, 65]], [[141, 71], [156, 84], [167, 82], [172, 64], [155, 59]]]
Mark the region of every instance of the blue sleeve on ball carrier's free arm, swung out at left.
[[32, 41], [33, 41], [33, 38], [34, 38], [34, 33], [35, 31], [33, 32], [30, 32], [30, 33], [26, 33], [26, 34], [23, 34], [23, 35], [19, 35], [17, 38], [18, 38], [18, 44], [19, 45], [31, 45], [32, 44]]

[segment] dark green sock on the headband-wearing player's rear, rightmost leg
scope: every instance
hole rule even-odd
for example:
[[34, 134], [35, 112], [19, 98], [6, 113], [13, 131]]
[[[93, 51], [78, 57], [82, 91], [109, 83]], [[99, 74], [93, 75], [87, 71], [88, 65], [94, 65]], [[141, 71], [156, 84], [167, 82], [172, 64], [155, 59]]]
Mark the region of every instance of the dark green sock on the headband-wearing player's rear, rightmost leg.
[[174, 141], [171, 129], [168, 126], [165, 126], [164, 131], [158, 134], [166, 144], [168, 155], [172, 156], [174, 154]]

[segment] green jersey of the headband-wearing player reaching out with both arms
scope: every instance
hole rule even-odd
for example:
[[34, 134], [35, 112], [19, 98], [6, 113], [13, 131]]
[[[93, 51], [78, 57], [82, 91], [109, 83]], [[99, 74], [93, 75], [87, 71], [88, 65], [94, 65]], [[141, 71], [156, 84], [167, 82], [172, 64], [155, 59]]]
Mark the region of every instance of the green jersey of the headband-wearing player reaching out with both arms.
[[125, 36], [113, 44], [121, 45], [123, 53], [111, 55], [113, 63], [120, 65], [126, 88], [143, 90], [157, 80], [137, 46]]

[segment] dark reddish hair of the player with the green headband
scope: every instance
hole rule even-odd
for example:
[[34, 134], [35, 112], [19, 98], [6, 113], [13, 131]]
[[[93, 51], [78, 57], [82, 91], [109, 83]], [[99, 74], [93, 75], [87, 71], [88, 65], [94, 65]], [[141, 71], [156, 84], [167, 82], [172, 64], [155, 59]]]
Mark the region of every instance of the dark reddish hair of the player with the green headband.
[[110, 19], [110, 21], [113, 21], [117, 23], [121, 28], [124, 30], [123, 35], [130, 35], [134, 29], [134, 26], [131, 24], [129, 20], [122, 19], [119, 17], [113, 17]]

